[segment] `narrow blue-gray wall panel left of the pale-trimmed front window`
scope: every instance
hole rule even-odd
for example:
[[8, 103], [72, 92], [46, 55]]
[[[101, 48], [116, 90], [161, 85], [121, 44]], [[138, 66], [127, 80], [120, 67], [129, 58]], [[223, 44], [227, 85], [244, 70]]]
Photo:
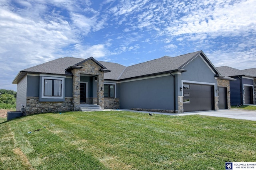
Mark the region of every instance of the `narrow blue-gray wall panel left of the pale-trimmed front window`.
[[39, 76], [28, 76], [27, 78], [27, 96], [39, 97]]

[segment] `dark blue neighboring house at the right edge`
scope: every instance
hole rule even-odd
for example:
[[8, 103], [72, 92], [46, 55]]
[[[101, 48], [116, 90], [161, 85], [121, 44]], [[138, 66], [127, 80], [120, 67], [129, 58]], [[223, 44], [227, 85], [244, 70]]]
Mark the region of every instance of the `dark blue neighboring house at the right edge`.
[[231, 106], [255, 104], [254, 84], [256, 74], [252, 74], [253, 72], [250, 73], [250, 69], [238, 70], [229, 66], [221, 66], [216, 68], [221, 75], [236, 79], [236, 81], [230, 82]]

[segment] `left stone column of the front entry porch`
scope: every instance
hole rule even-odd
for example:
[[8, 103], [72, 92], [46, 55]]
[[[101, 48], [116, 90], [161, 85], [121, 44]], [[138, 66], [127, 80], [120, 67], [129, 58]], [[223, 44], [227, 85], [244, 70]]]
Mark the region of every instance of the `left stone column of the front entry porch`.
[[73, 74], [73, 106], [74, 111], [80, 107], [80, 72], [77, 69], [71, 71]]

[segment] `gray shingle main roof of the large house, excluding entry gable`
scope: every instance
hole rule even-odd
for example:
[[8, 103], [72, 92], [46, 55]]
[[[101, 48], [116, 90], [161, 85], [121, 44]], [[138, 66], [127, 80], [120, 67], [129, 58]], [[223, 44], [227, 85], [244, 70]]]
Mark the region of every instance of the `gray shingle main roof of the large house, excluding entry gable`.
[[[135, 78], [139, 76], [147, 76], [152, 74], [162, 74], [171, 71], [184, 72], [186, 70], [184, 70], [183, 67], [200, 54], [204, 55], [202, 51], [196, 51], [194, 53], [188, 53], [177, 57], [164, 56], [159, 59], [154, 59], [151, 61], [135, 64], [128, 67], [123, 66], [121, 64], [109, 63], [104, 61], [98, 61], [98, 64], [111, 70], [111, 72], [104, 73], [104, 79], [124, 80], [127, 78]], [[218, 70], [216, 70], [212, 63], [210, 63], [207, 57], [204, 56], [204, 59], [212, 67], [216, 74], [218, 74]], [[47, 63], [39, 64], [37, 66], [26, 68], [20, 71], [20, 73], [14, 79], [13, 83], [18, 83], [18, 81], [25, 75], [26, 72], [72, 75], [70, 70], [76, 68], [76, 65], [83, 61], [85, 61], [85, 59], [64, 57], [53, 61], [49, 61]]]

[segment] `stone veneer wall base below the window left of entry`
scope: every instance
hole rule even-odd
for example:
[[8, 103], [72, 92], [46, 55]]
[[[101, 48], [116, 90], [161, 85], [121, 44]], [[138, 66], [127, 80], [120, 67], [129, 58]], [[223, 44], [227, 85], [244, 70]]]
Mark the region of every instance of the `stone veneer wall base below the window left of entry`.
[[65, 98], [64, 102], [39, 102], [38, 97], [27, 97], [26, 114], [50, 113], [60, 111], [72, 111], [72, 98]]

